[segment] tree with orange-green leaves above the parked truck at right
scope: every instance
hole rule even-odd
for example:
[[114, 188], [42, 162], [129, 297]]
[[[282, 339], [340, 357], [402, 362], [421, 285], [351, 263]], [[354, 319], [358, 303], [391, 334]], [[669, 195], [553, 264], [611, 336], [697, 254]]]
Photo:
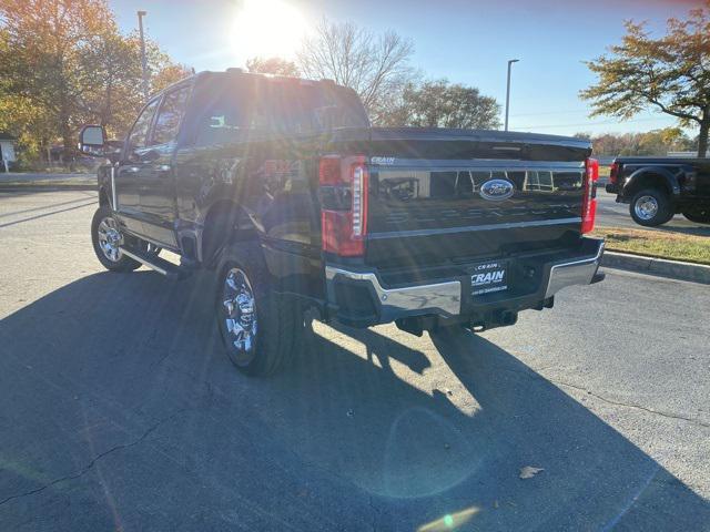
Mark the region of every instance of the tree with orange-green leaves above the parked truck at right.
[[698, 155], [704, 156], [710, 131], [709, 11], [701, 8], [687, 20], [669, 19], [666, 35], [658, 39], [645, 23], [627, 22], [621, 44], [587, 62], [598, 76], [580, 92], [592, 102], [591, 115], [629, 119], [655, 108], [682, 126], [699, 127]]

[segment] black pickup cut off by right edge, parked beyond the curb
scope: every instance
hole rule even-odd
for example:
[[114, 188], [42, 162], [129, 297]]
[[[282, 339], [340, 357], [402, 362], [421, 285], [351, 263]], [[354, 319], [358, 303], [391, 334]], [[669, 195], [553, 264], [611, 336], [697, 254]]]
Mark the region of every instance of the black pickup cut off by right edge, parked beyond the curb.
[[617, 157], [606, 190], [628, 203], [637, 224], [665, 224], [682, 213], [710, 224], [710, 158]]

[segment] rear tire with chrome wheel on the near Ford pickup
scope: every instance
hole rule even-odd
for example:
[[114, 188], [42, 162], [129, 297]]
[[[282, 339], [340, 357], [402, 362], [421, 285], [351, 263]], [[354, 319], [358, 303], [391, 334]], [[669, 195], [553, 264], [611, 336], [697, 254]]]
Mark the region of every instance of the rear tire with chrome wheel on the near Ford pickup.
[[297, 305], [274, 293], [256, 242], [225, 247], [217, 272], [215, 313], [227, 357], [245, 375], [275, 374], [298, 345]]

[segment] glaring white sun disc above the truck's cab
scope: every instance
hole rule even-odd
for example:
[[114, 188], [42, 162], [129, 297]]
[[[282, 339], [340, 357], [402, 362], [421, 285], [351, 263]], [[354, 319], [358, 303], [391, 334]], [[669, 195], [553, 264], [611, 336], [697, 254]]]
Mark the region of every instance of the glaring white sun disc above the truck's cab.
[[284, 0], [244, 0], [232, 28], [234, 55], [293, 58], [306, 24], [303, 13]]

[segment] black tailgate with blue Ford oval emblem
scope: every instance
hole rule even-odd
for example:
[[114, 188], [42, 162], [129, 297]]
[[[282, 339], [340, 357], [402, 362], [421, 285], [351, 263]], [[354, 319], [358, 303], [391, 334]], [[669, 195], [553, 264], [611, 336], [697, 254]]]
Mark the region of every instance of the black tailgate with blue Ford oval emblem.
[[578, 241], [588, 144], [485, 133], [375, 130], [367, 264], [503, 258]]

